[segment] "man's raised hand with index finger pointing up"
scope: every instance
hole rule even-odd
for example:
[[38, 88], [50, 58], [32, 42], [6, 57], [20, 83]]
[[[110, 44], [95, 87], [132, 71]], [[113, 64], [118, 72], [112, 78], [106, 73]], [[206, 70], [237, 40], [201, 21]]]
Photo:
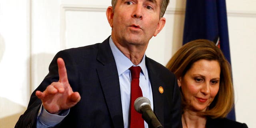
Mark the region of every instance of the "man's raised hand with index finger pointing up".
[[44, 109], [51, 114], [75, 106], [81, 99], [78, 92], [73, 92], [68, 83], [68, 75], [64, 60], [58, 58], [59, 81], [52, 82], [44, 92], [36, 91], [36, 96], [42, 100]]

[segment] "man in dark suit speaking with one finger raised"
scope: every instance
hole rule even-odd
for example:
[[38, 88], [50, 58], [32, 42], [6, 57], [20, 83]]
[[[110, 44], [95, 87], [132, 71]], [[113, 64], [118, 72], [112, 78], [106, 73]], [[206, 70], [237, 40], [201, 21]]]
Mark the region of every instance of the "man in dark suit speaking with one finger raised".
[[15, 127], [130, 127], [131, 66], [141, 67], [139, 86], [161, 124], [181, 127], [174, 74], [145, 56], [150, 38], [164, 27], [168, 3], [112, 0], [106, 11], [111, 36], [100, 44], [58, 52]]

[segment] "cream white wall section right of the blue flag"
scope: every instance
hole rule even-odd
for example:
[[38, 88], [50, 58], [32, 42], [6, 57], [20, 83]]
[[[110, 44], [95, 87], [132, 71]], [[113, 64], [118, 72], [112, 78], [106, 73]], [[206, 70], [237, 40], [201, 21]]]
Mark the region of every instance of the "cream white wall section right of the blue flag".
[[256, 1], [226, 0], [236, 120], [256, 128]]

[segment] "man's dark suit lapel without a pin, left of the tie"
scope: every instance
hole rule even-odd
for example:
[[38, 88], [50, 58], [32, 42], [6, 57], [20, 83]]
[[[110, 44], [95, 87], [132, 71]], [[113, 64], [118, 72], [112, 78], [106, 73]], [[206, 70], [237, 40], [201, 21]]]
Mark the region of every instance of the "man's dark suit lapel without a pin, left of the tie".
[[114, 127], [122, 128], [124, 127], [124, 120], [122, 114], [120, 84], [116, 62], [108, 40], [109, 38], [99, 45], [97, 60], [101, 64], [99, 64], [96, 70]]

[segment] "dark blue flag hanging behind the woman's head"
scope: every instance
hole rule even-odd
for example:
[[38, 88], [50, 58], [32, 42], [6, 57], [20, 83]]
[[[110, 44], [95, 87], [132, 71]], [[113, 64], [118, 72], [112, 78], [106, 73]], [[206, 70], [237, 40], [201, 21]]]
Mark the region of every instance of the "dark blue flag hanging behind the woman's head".
[[[196, 39], [215, 42], [231, 64], [225, 0], [187, 0], [183, 44]], [[236, 120], [234, 108], [227, 118]]]

